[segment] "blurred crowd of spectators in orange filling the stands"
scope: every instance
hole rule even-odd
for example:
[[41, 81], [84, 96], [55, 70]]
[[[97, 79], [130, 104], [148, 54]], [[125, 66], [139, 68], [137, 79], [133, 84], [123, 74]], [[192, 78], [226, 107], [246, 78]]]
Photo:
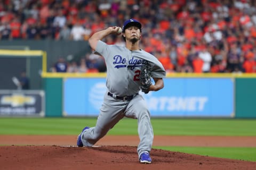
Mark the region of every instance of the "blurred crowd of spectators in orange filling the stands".
[[[95, 32], [142, 23], [140, 47], [167, 72], [256, 72], [254, 0], [3, 0], [1, 39], [86, 41]], [[107, 44], [124, 46], [121, 36]], [[60, 58], [53, 72], [105, 72], [103, 58], [88, 52], [79, 61]]]

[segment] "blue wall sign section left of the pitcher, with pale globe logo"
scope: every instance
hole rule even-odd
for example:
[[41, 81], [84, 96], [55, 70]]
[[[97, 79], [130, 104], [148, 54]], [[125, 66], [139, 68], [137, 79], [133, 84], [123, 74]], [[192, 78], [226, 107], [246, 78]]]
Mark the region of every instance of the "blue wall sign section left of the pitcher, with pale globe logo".
[[107, 90], [103, 78], [67, 78], [63, 84], [63, 111], [68, 116], [97, 116]]

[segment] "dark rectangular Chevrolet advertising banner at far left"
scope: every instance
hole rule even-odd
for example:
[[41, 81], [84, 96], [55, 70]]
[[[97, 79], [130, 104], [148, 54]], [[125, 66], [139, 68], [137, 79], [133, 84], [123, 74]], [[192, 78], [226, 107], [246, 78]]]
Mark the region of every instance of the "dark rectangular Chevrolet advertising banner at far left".
[[0, 90], [0, 116], [44, 115], [44, 91]]

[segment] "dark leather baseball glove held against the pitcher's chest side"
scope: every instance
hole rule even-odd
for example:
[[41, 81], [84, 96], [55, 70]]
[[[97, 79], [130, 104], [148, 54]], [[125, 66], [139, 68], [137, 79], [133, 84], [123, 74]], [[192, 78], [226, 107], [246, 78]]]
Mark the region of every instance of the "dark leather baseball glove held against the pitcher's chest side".
[[141, 72], [140, 72], [140, 84], [141, 84], [141, 91], [145, 94], [149, 91], [149, 86], [151, 83], [151, 77], [150, 77], [150, 70], [149, 66], [147, 64], [141, 66]]

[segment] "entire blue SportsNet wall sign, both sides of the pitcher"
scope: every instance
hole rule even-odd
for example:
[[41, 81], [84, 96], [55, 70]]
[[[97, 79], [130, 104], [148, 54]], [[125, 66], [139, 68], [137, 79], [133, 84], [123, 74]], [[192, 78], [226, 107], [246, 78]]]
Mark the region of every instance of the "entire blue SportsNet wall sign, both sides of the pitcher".
[[[67, 116], [98, 116], [107, 90], [104, 78], [67, 78], [63, 112]], [[165, 87], [142, 94], [151, 116], [231, 117], [234, 83], [230, 78], [166, 78]]]

